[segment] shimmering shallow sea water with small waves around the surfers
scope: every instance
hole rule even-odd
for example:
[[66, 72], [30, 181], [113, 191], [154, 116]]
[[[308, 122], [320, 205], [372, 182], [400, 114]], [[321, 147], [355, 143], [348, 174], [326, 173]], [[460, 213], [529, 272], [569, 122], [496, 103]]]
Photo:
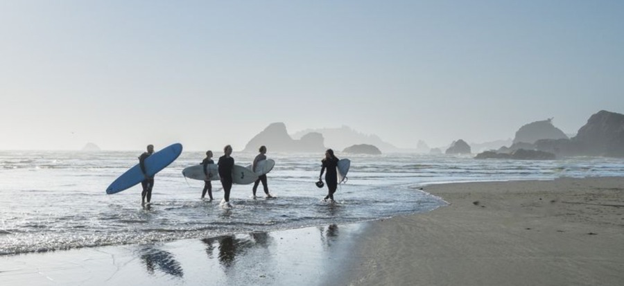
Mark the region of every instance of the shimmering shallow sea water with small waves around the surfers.
[[[138, 163], [136, 152], [0, 151], [0, 255], [347, 224], [431, 211], [444, 206], [426, 186], [461, 181], [507, 181], [624, 174], [620, 159], [583, 157], [555, 161], [478, 160], [471, 156], [337, 154], [351, 159], [348, 181], [321, 199], [322, 154], [268, 153], [275, 199], [260, 185], [234, 185], [233, 208], [222, 208], [220, 182], [213, 202], [200, 199], [203, 181], [182, 169], [203, 152], [183, 152], [155, 177], [152, 204], [141, 206], [141, 186], [106, 195], [107, 186]], [[234, 153], [245, 166], [255, 154]], [[218, 157], [218, 156], [217, 156]], [[424, 190], [421, 190], [424, 189]]]

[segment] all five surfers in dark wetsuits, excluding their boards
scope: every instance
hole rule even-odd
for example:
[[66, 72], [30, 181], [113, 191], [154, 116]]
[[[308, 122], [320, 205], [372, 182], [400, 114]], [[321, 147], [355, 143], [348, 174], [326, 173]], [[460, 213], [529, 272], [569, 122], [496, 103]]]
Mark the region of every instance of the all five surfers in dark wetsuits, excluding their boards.
[[[254, 163], [252, 164], [252, 171], [256, 172], [256, 168], [259, 161], [266, 160], [266, 146], [260, 146], [259, 154], [254, 158]], [[139, 156], [139, 166], [141, 168], [141, 172], [145, 179], [141, 181], [141, 186], [143, 187], [143, 191], [141, 192], [141, 204], [145, 205], [146, 200], [147, 204], [150, 204], [150, 200], [152, 198], [152, 188], [154, 187], [154, 177], [150, 177], [147, 175], [145, 168], [145, 159], [147, 159], [151, 154], [154, 153], [154, 145], [147, 146], [147, 152], [144, 152]], [[229, 192], [232, 190], [232, 184], [234, 180], [232, 179], [232, 168], [234, 168], [234, 158], [232, 158], [232, 146], [225, 145], [223, 148], [223, 156], [219, 157], [218, 172], [221, 181], [221, 186], [223, 187], [223, 201], [226, 206], [231, 206], [229, 204]], [[208, 172], [208, 165], [214, 164], [212, 160], [213, 154], [211, 150], [206, 152], [206, 158], [202, 160], [200, 163], [203, 166], [204, 175], [206, 175], [207, 180], [204, 181], [204, 188], [202, 190], [202, 199], [205, 199], [206, 193], [208, 193], [209, 199], [212, 201], [212, 183], [209, 178], [212, 176], [211, 173]], [[322, 186], [322, 177], [323, 173], [327, 169], [325, 173], [325, 181], [327, 182], [327, 196], [324, 197], [323, 201], [333, 202], [333, 193], [336, 193], [336, 188], [338, 188], [338, 173], [336, 171], [336, 167], [338, 167], [338, 158], [333, 154], [333, 150], [327, 149], [325, 151], [325, 158], [322, 159], [322, 167], [320, 171], [320, 175], [318, 177], [318, 181]], [[258, 179], [254, 182], [254, 186], [252, 188], [253, 197], [256, 198], [256, 190], [259, 184], [262, 183], [264, 188], [264, 193], [267, 198], [272, 197], [272, 195], [268, 191], [268, 184], [266, 179], [266, 174], [258, 176]]]

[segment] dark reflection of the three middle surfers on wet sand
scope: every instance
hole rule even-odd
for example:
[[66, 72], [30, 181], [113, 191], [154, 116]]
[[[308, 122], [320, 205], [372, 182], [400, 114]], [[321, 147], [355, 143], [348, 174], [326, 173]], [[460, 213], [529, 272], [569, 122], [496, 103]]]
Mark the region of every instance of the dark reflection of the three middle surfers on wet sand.
[[[214, 258], [214, 249], [218, 248], [218, 260], [226, 269], [236, 262], [236, 256], [241, 256], [248, 249], [254, 247], [268, 247], [270, 238], [266, 232], [254, 232], [248, 235], [223, 235], [216, 238], [205, 238], [208, 258]], [[216, 244], [216, 246], [215, 246]]]

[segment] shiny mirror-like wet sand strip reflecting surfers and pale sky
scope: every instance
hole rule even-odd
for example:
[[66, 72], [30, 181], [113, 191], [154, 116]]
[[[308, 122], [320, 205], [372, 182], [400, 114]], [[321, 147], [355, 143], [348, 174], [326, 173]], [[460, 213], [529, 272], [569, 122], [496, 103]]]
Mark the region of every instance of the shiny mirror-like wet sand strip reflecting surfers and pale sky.
[[333, 285], [363, 224], [0, 256], [0, 285]]

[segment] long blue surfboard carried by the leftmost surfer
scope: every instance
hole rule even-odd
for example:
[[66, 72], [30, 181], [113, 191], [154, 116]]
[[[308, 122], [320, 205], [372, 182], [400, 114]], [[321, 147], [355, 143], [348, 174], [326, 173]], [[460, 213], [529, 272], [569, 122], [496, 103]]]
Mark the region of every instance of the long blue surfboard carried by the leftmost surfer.
[[[173, 163], [178, 156], [182, 154], [182, 144], [175, 143], [169, 145], [145, 159], [145, 169], [149, 177], [154, 177], [157, 172], [164, 169], [169, 164]], [[141, 183], [145, 179], [143, 172], [141, 172], [141, 166], [137, 163], [130, 170], [125, 171], [119, 178], [114, 180], [110, 186], [106, 189], [106, 193], [111, 195], [119, 193], [122, 190], [128, 189], [136, 184]]]

